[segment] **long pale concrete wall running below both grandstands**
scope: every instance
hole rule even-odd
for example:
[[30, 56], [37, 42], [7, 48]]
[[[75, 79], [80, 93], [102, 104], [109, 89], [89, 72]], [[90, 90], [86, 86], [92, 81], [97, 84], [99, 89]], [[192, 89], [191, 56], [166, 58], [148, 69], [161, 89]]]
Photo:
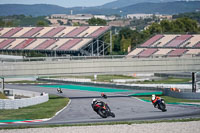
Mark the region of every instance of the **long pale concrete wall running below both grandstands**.
[[0, 76], [200, 71], [200, 57], [1, 62]]

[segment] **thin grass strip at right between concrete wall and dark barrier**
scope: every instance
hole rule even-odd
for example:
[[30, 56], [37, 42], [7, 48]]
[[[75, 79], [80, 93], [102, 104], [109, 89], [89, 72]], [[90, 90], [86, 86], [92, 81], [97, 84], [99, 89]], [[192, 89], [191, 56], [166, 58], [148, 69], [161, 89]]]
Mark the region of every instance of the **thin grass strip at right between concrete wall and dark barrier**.
[[190, 78], [167, 78], [159, 81], [144, 81], [137, 82], [140, 84], [180, 84], [180, 83], [189, 83], [191, 81]]

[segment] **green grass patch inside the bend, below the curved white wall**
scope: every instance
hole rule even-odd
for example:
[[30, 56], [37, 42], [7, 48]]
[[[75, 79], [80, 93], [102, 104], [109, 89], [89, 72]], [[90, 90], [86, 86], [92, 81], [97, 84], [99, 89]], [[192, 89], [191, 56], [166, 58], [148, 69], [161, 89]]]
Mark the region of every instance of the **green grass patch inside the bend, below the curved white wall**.
[[64, 108], [68, 98], [50, 95], [49, 101], [21, 109], [1, 110], [0, 120], [24, 120], [50, 118]]

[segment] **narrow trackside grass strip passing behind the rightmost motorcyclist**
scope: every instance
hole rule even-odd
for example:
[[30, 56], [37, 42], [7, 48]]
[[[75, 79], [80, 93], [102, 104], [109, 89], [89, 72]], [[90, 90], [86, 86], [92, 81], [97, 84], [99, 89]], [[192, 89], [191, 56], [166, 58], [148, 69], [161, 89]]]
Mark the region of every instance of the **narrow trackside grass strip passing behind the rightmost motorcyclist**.
[[[200, 100], [179, 99], [179, 98], [173, 98], [173, 97], [169, 97], [169, 96], [161, 96], [161, 97], [165, 99], [166, 103], [181, 103], [181, 102], [200, 103]], [[151, 101], [151, 96], [142, 96], [142, 97], [138, 97], [138, 98], [143, 99], [143, 100], [147, 100], [147, 101]]]

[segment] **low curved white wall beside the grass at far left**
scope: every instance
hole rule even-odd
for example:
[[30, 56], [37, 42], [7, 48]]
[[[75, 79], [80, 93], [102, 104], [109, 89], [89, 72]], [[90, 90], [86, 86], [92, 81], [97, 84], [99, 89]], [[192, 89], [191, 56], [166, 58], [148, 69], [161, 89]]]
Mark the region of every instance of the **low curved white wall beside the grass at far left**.
[[34, 97], [23, 98], [23, 99], [13, 99], [13, 100], [0, 99], [0, 109], [19, 109], [22, 107], [44, 103], [49, 100], [48, 94], [44, 94], [40, 96], [40, 93], [37, 93], [37, 92], [21, 91], [21, 90], [14, 90], [13, 92], [14, 94], [17, 94], [17, 95], [34, 96]]

